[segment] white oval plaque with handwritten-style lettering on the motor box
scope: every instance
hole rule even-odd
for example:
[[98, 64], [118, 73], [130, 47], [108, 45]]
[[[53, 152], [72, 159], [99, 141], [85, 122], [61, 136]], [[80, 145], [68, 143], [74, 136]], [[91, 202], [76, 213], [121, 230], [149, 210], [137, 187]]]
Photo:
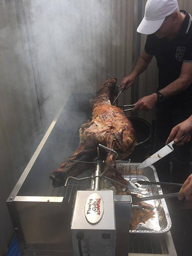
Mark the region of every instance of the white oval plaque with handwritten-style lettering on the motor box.
[[88, 222], [95, 224], [103, 216], [104, 202], [101, 195], [93, 193], [88, 196], [84, 205], [84, 214]]

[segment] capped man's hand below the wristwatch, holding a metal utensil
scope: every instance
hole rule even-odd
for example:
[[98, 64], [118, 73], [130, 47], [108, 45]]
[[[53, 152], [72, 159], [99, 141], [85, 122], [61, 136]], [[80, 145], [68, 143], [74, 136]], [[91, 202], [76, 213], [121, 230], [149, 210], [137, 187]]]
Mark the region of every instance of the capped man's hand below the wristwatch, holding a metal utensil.
[[136, 106], [132, 109], [132, 111], [134, 111], [134, 110], [145, 110], [145, 111], [152, 110], [154, 105], [156, 104], [156, 101], [157, 101], [156, 93], [153, 93], [151, 95], [140, 98], [135, 103]]

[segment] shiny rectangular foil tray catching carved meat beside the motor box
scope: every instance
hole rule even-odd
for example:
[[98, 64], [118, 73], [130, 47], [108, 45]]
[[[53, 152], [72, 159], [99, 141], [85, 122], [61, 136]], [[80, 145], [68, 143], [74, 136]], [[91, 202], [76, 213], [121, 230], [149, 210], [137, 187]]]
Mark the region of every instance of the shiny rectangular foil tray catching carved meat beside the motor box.
[[[144, 181], [156, 181], [158, 182], [158, 176], [154, 166], [148, 166], [142, 170], [137, 170], [139, 163], [117, 163], [116, 168], [118, 172], [122, 174], [125, 180], [131, 181], [129, 189], [131, 193], [138, 194], [140, 197], [162, 195], [163, 192], [159, 185], [140, 185], [134, 186], [138, 180]], [[108, 189], [113, 189], [113, 187]], [[154, 216], [145, 221], [142, 221], [135, 227], [134, 230], [130, 230], [131, 233], [165, 233], [171, 228], [171, 219], [168, 213], [168, 208], [165, 199], [155, 199], [145, 201], [145, 203], [153, 206]]]

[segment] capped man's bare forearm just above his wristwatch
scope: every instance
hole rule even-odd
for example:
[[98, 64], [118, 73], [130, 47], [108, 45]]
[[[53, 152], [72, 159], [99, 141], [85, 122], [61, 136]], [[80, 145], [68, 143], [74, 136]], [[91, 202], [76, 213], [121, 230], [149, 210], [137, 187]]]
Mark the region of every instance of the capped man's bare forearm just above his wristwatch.
[[159, 90], [159, 92], [162, 93], [165, 98], [169, 98], [173, 95], [180, 93], [190, 85], [191, 81], [179, 77], [178, 79], [167, 85], [165, 88]]

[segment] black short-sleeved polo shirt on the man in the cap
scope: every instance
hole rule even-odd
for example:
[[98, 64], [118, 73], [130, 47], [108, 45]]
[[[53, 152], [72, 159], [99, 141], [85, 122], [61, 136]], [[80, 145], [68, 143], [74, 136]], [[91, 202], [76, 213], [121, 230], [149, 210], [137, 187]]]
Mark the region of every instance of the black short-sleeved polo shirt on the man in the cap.
[[[154, 34], [148, 35], [145, 43], [145, 52], [155, 55], [159, 69], [159, 87], [164, 88], [180, 76], [182, 62], [192, 62], [192, 16], [185, 12], [185, 19], [176, 38], [168, 41], [167, 38], [158, 38]], [[182, 102], [192, 100], [192, 85], [169, 100]]]

